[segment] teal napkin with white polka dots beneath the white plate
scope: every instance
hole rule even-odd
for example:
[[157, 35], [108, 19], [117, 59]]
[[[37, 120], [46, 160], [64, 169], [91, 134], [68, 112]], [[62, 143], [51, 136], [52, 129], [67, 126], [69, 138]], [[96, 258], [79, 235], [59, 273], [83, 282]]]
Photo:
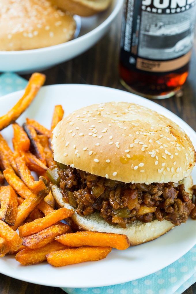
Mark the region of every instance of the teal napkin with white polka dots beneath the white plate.
[[[17, 74], [0, 74], [0, 96], [24, 89], [26, 85], [27, 81]], [[196, 245], [171, 265], [144, 278], [107, 287], [63, 290], [68, 294], [181, 294], [195, 282]]]

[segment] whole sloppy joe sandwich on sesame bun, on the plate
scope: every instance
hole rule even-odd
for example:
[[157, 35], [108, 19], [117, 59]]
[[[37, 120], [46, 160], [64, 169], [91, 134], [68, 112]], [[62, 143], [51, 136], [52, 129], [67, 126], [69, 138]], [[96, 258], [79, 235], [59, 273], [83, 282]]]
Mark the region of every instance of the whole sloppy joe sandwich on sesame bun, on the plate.
[[[74, 209], [74, 230], [126, 234], [148, 242], [185, 223], [191, 210], [195, 149], [174, 122], [127, 102], [76, 110], [53, 131], [51, 191]], [[56, 176], [54, 176], [54, 172]]]

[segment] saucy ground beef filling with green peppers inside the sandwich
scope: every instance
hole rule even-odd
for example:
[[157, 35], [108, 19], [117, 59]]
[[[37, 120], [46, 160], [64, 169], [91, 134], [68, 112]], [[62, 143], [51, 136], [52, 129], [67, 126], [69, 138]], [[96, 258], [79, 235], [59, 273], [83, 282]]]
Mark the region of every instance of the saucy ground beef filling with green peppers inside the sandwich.
[[110, 224], [126, 224], [157, 218], [174, 225], [187, 221], [194, 204], [184, 185], [174, 183], [131, 184], [95, 176], [68, 166], [58, 172], [63, 200], [81, 216], [95, 211]]

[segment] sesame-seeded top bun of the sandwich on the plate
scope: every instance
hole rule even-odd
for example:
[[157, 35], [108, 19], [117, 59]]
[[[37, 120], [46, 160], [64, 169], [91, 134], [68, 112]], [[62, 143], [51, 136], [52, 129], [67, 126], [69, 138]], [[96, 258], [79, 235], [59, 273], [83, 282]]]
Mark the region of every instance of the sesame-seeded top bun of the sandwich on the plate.
[[125, 183], [188, 177], [195, 150], [170, 119], [127, 102], [94, 104], [63, 118], [53, 131], [54, 160]]

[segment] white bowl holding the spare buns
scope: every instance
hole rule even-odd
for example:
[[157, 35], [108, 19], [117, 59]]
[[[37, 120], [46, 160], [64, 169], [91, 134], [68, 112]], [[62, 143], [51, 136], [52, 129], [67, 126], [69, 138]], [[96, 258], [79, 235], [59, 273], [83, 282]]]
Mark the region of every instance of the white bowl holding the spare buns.
[[77, 17], [80, 32], [76, 39], [66, 43], [33, 50], [0, 51], [0, 72], [41, 71], [82, 54], [106, 33], [122, 4], [123, 0], [113, 0], [111, 6], [100, 14]]

